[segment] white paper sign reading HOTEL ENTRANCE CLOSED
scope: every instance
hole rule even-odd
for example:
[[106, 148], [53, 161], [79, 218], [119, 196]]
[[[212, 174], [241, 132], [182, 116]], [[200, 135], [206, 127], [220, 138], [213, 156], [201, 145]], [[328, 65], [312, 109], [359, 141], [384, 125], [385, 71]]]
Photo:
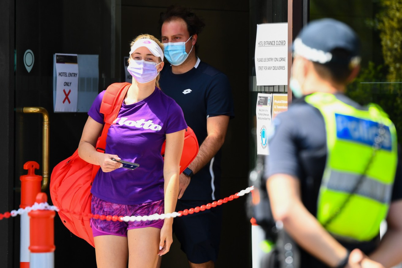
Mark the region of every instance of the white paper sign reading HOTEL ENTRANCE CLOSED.
[[287, 85], [287, 23], [257, 25], [255, 72], [257, 86]]

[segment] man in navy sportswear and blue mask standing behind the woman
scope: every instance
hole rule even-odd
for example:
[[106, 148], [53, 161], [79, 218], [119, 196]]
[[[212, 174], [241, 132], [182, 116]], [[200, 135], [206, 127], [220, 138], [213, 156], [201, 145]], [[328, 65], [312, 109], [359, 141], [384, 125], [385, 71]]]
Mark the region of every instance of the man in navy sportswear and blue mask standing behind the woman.
[[[166, 64], [161, 90], [183, 109], [187, 125], [199, 142], [199, 153], [180, 174], [176, 211], [219, 199], [220, 148], [229, 119], [234, 116], [228, 78], [196, 56], [198, 34], [204, 23], [188, 8], [169, 7], [160, 27]], [[219, 248], [222, 208], [215, 207], [174, 219], [173, 230], [191, 268], [214, 267]]]

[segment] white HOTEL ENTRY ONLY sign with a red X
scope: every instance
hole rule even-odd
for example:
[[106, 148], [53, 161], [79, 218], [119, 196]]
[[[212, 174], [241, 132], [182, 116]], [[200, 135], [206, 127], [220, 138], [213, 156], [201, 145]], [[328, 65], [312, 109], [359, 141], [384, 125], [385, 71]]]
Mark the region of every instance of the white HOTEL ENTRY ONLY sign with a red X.
[[78, 55], [55, 54], [55, 112], [76, 112], [78, 100]]

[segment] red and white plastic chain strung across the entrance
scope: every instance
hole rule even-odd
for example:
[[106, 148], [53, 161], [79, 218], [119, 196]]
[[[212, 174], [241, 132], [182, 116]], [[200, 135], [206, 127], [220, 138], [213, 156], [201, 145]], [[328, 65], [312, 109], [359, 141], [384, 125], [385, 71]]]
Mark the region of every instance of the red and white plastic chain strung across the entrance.
[[[178, 211], [178, 212], [173, 212], [173, 213], [163, 213], [163, 214], [153, 214], [153, 215], [146, 215], [146, 216], [112, 216], [112, 215], [97, 215], [97, 214], [89, 214], [85, 215], [94, 219], [101, 219], [101, 220], [107, 220], [107, 221], [154, 221], [154, 220], [163, 220], [163, 219], [168, 219], [168, 218], [176, 218], [176, 217], [181, 217], [185, 216], [188, 214], [193, 214], [197, 213], [200, 211], [205, 211], [205, 209], [211, 209], [211, 207], [216, 207], [220, 206], [224, 203], [228, 203], [228, 201], [232, 201], [233, 199], [239, 198], [240, 196], [244, 196], [244, 194], [248, 194], [251, 190], [254, 189], [254, 186], [248, 187], [244, 190], [241, 190], [240, 192], [236, 194], [232, 194], [231, 196], [225, 197], [224, 199], [219, 199], [217, 201], [213, 201], [212, 203], [208, 203], [206, 205], [202, 205], [200, 207], [195, 207], [191, 209], [185, 209], [183, 211]], [[5, 212], [5, 213], [0, 213], [0, 220], [2, 219], [8, 219], [10, 217], [16, 217], [17, 215], [23, 215], [23, 213], [28, 213], [30, 211], [34, 210], [52, 210], [52, 211], [66, 211], [69, 213], [74, 213], [77, 215], [80, 215], [80, 213], [75, 213], [71, 211], [67, 211], [65, 209], [59, 209], [56, 206], [51, 206], [47, 202], [44, 203], [35, 203], [31, 207], [25, 207], [25, 209], [18, 209], [18, 210], [13, 210], [10, 212]]]

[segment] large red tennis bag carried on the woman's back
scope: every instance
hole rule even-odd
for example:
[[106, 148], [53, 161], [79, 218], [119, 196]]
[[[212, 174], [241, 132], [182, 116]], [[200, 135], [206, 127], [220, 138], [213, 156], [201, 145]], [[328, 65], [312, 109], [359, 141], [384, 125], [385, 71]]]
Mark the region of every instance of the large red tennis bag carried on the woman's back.
[[[129, 88], [129, 83], [111, 84], [103, 96], [100, 113], [105, 115], [105, 126], [96, 143], [96, 150], [105, 152], [106, 137], [110, 125], [117, 118], [121, 104]], [[164, 155], [165, 143], [162, 145]], [[193, 130], [185, 131], [183, 153], [180, 159], [180, 173], [193, 162], [198, 153], [198, 141]], [[94, 246], [90, 227], [92, 181], [100, 166], [89, 164], [78, 155], [78, 149], [72, 156], [57, 164], [50, 176], [50, 197], [58, 207], [60, 219], [74, 235]], [[125, 215], [122, 215], [125, 216]]]

